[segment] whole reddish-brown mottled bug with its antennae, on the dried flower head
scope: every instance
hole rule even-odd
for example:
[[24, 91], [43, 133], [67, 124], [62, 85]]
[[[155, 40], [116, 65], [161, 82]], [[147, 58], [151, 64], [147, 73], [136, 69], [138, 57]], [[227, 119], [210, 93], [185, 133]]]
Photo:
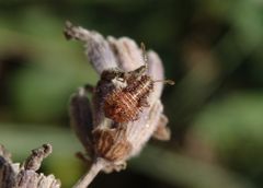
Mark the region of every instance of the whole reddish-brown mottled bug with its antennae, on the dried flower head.
[[151, 77], [146, 74], [148, 67], [144, 44], [141, 44], [141, 50], [146, 63], [134, 71], [123, 72], [118, 79], [125, 82], [126, 86], [113, 90], [105, 97], [105, 117], [115, 122], [128, 122], [138, 119], [142, 107], [149, 107], [147, 98], [153, 90], [155, 82], [174, 84], [171, 80], [153, 81]]

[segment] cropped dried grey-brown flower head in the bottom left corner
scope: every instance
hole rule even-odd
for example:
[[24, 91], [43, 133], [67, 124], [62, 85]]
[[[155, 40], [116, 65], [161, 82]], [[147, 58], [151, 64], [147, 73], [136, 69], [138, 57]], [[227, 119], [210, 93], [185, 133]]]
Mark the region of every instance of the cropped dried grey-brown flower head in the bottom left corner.
[[50, 153], [52, 145], [43, 144], [20, 165], [12, 163], [11, 154], [0, 145], [0, 188], [59, 188], [60, 181], [54, 175], [36, 173]]

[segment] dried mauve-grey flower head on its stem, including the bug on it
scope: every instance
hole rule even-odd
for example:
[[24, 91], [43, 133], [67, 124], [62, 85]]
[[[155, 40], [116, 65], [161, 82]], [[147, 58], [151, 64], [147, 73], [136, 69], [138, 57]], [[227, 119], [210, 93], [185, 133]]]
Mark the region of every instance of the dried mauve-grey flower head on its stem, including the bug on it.
[[170, 139], [160, 96], [163, 83], [173, 82], [164, 80], [159, 56], [130, 38], [104, 38], [70, 22], [64, 32], [67, 39], [84, 43], [88, 60], [100, 74], [95, 86], [80, 87], [70, 102], [71, 126], [87, 151], [82, 158], [92, 162], [76, 187], [87, 187], [100, 171], [125, 168], [151, 137]]

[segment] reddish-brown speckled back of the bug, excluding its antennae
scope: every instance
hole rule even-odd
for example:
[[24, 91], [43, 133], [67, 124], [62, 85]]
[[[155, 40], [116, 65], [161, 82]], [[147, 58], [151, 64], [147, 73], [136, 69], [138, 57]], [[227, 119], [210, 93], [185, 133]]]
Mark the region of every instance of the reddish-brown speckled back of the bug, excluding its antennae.
[[106, 96], [105, 116], [115, 122], [135, 121], [142, 107], [148, 107], [147, 97], [153, 90], [153, 81], [149, 75], [139, 79], [132, 77], [127, 86], [113, 91]]

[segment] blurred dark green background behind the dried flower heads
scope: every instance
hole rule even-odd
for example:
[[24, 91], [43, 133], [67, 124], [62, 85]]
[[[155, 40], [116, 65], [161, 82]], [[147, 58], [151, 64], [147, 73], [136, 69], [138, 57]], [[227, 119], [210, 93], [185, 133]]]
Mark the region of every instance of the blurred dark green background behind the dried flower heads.
[[1, 1], [0, 143], [22, 162], [52, 143], [42, 171], [71, 187], [87, 171], [68, 101], [98, 75], [66, 20], [144, 42], [176, 81], [163, 92], [169, 142], [150, 141], [128, 168], [91, 187], [263, 187], [263, 1]]

